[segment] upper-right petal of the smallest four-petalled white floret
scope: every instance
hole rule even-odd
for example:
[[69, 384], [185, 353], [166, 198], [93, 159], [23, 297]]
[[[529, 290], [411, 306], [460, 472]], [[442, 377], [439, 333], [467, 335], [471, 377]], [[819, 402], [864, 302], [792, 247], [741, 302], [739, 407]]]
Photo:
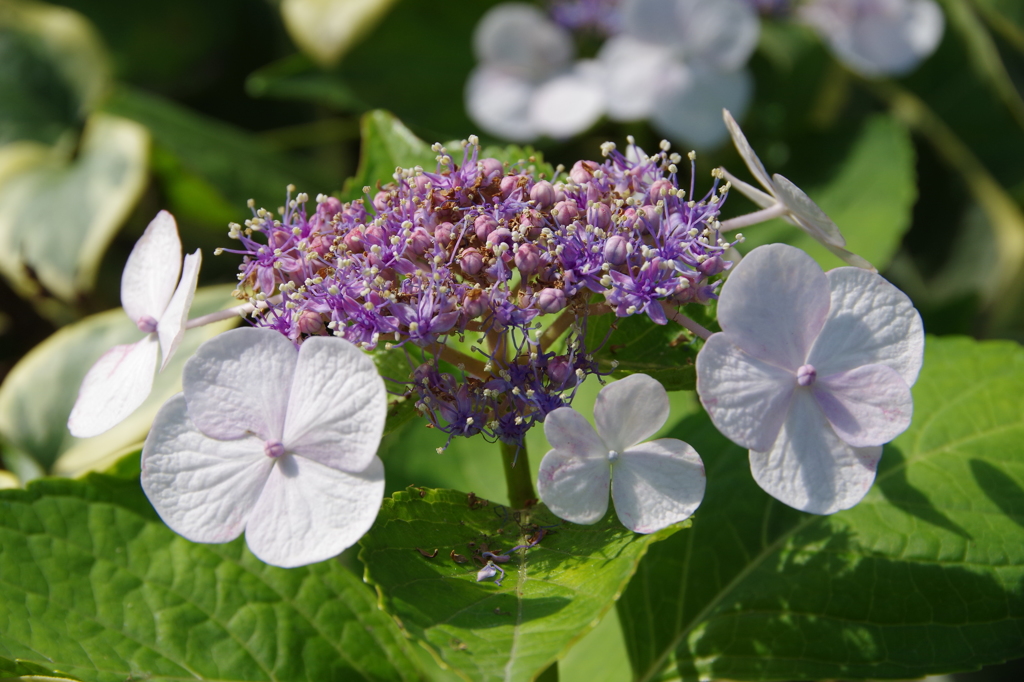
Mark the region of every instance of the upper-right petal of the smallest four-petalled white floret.
[[597, 432], [608, 450], [617, 453], [654, 435], [668, 419], [669, 394], [646, 374], [611, 382], [594, 403]]

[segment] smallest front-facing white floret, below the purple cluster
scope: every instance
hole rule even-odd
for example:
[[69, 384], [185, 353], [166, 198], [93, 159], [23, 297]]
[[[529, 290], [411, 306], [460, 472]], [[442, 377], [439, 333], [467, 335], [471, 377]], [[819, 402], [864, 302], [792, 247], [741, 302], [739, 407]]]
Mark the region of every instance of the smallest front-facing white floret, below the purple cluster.
[[608, 510], [610, 484], [618, 520], [635, 532], [689, 518], [705, 494], [700, 457], [676, 438], [641, 442], [668, 418], [665, 387], [643, 374], [601, 389], [596, 431], [571, 408], [551, 412], [544, 433], [554, 450], [541, 461], [541, 500], [559, 518], [596, 523]]

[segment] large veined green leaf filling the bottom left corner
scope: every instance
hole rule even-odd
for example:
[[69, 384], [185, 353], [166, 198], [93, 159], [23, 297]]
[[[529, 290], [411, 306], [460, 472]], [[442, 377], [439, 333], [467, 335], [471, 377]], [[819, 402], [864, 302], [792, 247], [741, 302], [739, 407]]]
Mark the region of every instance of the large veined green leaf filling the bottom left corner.
[[339, 561], [281, 569], [198, 545], [138, 480], [0, 492], [0, 655], [86, 682], [416, 680], [409, 643]]

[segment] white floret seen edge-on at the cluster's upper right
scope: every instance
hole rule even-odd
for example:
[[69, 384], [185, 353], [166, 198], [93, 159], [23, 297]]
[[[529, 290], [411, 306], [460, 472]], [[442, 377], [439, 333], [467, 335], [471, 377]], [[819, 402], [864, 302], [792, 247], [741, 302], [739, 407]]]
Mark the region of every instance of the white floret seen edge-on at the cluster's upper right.
[[872, 272], [877, 271], [866, 260], [843, 248], [846, 246], [846, 240], [839, 231], [839, 227], [800, 187], [778, 173], [771, 177], [768, 176], [768, 171], [765, 170], [761, 159], [754, 153], [754, 148], [746, 141], [746, 136], [740, 130], [739, 124], [736, 123], [727, 109], [723, 110], [722, 117], [725, 119], [725, 125], [729, 129], [736, 151], [739, 152], [739, 156], [742, 157], [751, 173], [761, 183], [761, 186], [768, 190], [768, 194], [743, 182], [723, 168], [725, 178], [732, 186], [762, 209], [778, 207], [780, 215], [777, 217], [781, 217], [786, 222], [803, 229], [843, 262]]

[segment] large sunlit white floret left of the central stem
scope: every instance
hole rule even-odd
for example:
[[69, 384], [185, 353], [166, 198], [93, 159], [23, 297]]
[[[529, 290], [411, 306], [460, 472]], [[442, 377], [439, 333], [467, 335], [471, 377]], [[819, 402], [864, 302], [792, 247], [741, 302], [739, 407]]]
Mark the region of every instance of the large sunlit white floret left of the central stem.
[[142, 488], [175, 532], [283, 567], [323, 561], [370, 529], [387, 399], [373, 360], [336, 337], [298, 349], [273, 330], [207, 341], [142, 449]]

